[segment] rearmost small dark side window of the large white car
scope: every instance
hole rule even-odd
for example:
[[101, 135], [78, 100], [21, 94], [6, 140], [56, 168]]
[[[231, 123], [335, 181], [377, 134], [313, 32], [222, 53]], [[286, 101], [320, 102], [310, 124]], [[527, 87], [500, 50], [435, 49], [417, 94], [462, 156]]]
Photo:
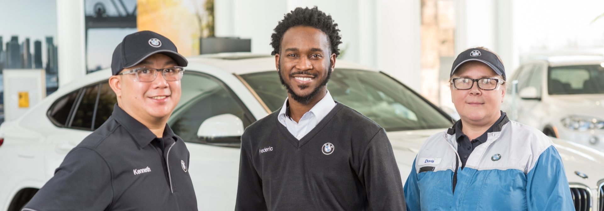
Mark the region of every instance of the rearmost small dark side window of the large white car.
[[53, 105], [48, 109], [48, 119], [58, 127], [65, 127], [69, 113], [71, 113], [71, 109], [79, 94], [80, 90], [78, 89], [54, 101]]

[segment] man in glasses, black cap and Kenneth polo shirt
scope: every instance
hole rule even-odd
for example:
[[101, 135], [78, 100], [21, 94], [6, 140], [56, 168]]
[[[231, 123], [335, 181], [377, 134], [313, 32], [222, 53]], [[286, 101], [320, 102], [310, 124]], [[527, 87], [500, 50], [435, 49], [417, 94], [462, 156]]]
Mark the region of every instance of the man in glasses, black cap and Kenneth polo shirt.
[[111, 117], [71, 150], [23, 210], [197, 210], [189, 153], [167, 125], [187, 60], [152, 31], [115, 48]]

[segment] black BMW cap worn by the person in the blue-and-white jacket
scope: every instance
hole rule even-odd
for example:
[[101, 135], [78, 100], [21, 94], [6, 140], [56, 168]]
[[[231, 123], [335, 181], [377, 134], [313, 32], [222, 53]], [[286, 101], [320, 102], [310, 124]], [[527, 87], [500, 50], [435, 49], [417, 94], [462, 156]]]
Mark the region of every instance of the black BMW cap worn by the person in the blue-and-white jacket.
[[457, 55], [451, 68], [451, 75], [449, 76], [453, 76], [454, 72], [468, 61], [480, 61], [493, 69], [496, 74], [501, 75], [503, 80], [506, 80], [506, 69], [503, 68], [503, 63], [501, 63], [497, 55], [480, 48], [470, 48]]

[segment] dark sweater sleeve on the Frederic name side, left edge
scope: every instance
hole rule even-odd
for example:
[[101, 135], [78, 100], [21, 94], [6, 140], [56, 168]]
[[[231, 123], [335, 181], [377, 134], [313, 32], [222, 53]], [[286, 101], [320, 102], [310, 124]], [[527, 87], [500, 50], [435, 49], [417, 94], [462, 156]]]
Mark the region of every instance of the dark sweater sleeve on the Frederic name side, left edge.
[[235, 210], [268, 210], [262, 192], [262, 178], [254, 168], [251, 159], [249, 140], [242, 136], [241, 156], [239, 160], [239, 183]]

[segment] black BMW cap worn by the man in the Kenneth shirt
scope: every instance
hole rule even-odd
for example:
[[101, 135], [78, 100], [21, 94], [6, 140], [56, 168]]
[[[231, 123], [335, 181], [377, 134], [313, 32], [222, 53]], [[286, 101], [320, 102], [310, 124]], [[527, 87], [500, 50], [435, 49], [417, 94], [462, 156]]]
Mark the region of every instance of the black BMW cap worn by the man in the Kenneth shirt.
[[128, 34], [115, 47], [111, 59], [111, 72], [117, 75], [124, 68], [131, 68], [153, 54], [164, 54], [176, 61], [178, 66], [185, 67], [188, 61], [178, 53], [176, 45], [153, 31], [139, 31]]

